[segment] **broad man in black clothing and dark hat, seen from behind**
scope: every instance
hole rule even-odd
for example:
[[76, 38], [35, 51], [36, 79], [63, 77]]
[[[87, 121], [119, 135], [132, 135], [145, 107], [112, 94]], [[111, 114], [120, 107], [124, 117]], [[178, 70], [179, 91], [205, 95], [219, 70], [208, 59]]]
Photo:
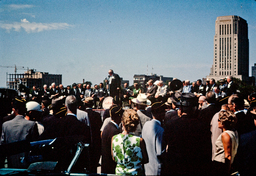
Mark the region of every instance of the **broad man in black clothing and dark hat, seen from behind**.
[[[181, 116], [165, 127], [164, 143], [168, 149], [163, 157], [162, 174], [207, 175], [211, 163], [210, 130], [197, 118], [197, 97], [193, 93], [174, 96]], [[207, 149], [210, 153], [206, 153]]]

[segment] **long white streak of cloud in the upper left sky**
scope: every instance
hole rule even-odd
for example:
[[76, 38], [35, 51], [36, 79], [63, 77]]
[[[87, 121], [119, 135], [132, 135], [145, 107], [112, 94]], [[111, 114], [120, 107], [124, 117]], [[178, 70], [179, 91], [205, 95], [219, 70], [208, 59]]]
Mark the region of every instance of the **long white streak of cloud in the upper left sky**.
[[21, 22], [14, 23], [0, 23], [0, 28], [5, 29], [7, 32], [11, 30], [19, 32], [21, 29], [24, 29], [27, 33], [31, 32], [42, 32], [47, 30], [62, 30], [68, 27], [72, 27], [72, 25], [67, 23], [30, 23], [26, 19], [22, 19]]

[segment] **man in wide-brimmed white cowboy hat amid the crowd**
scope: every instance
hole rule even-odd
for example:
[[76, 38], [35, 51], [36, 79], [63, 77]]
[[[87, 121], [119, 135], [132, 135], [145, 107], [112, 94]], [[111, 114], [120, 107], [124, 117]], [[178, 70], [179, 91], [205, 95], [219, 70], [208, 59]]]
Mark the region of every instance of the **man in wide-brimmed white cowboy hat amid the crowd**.
[[140, 119], [137, 129], [135, 130], [135, 135], [141, 136], [144, 124], [152, 119], [151, 114], [145, 110], [151, 102], [147, 99], [147, 96], [144, 93], [139, 94], [137, 98], [133, 98], [132, 102], [135, 104], [135, 109], [137, 110], [137, 114]]

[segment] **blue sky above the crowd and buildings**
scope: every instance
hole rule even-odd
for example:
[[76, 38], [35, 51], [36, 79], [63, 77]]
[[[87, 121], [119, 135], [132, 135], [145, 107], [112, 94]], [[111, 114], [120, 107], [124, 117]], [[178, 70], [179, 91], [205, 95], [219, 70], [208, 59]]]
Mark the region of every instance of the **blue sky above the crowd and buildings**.
[[248, 23], [256, 63], [255, 0], [0, 0], [0, 87], [6, 73], [62, 74], [99, 84], [113, 69], [195, 81], [210, 73], [218, 16]]

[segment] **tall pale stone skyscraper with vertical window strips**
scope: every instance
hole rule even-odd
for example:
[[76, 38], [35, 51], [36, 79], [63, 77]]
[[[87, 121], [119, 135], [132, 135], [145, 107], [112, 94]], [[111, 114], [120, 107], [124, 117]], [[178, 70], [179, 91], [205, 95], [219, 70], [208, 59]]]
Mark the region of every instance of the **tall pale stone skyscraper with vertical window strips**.
[[221, 16], [215, 22], [213, 65], [207, 78], [227, 76], [249, 77], [248, 25], [239, 16]]

